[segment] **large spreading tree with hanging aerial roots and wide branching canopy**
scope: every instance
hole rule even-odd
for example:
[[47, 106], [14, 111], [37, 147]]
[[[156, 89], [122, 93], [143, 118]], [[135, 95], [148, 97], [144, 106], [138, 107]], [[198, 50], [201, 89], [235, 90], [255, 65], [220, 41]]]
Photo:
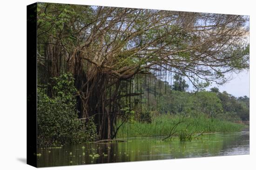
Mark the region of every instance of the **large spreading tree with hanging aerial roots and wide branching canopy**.
[[101, 139], [115, 137], [135, 75], [160, 70], [196, 88], [249, 68], [247, 16], [65, 4], [38, 4], [38, 77], [72, 72], [81, 119], [94, 116]]

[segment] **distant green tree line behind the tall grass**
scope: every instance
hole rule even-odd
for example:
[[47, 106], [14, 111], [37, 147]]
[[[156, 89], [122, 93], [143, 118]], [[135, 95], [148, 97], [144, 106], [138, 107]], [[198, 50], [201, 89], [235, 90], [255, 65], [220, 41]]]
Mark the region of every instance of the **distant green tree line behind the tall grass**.
[[[249, 121], [247, 96], [236, 98], [226, 91], [220, 92], [218, 88], [195, 92], [174, 90], [175, 82], [174, 85], [169, 85], [168, 82], [153, 76], [146, 78], [145, 81], [147, 85], [142, 87], [144, 94], [142, 94], [141, 108], [135, 107], [137, 113], [149, 112], [151, 116], [186, 113], [191, 117], [204, 115], [206, 118], [232, 122]], [[156, 81], [158, 83], [155, 83]], [[186, 84], [185, 80], [184, 84]]]

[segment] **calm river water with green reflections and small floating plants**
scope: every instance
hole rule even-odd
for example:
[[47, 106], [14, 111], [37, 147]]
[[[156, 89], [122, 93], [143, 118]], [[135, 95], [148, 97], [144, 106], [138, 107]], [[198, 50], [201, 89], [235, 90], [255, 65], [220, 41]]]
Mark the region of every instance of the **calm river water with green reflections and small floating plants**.
[[129, 138], [126, 142], [40, 149], [38, 167], [249, 154], [249, 131], [204, 134], [192, 141]]

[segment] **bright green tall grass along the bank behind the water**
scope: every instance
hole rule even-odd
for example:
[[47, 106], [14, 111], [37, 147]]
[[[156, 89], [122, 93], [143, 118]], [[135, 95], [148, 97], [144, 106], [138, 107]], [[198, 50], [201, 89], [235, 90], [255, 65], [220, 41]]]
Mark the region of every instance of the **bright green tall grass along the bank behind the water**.
[[[209, 133], [209, 132], [236, 132], [241, 131], [243, 124], [232, 123], [218, 119], [208, 119], [204, 116], [197, 118], [184, 118], [185, 122], [179, 124], [176, 131], [186, 130], [187, 132]], [[152, 123], [124, 123], [117, 133], [117, 138], [127, 137], [156, 137], [167, 136], [171, 128], [179, 122], [179, 116], [161, 115], [153, 118]], [[121, 122], [119, 122], [121, 123]], [[188, 126], [189, 125], [189, 126]], [[176, 133], [178, 134], [178, 132]]]

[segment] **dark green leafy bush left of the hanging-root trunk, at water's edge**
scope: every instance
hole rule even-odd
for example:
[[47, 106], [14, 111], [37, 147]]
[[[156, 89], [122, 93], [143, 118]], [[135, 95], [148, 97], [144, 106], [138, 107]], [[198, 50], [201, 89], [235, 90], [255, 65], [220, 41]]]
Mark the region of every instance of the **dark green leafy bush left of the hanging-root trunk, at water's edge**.
[[74, 78], [68, 73], [53, 78], [53, 94], [50, 98], [45, 90], [37, 93], [37, 144], [63, 145], [81, 143], [97, 138], [93, 120], [78, 120], [74, 94]]

